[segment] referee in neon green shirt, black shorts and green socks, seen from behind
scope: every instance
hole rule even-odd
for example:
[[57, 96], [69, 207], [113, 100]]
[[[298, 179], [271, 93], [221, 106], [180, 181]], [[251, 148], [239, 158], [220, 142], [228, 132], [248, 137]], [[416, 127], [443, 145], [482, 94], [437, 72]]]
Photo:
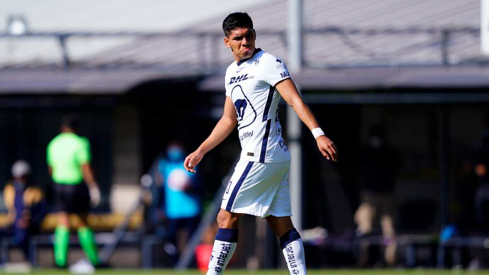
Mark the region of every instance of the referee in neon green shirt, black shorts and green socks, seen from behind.
[[69, 214], [79, 218], [78, 238], [85, 254], [94, 266], [100, 265], [93, 232], [87, 225], [90, 204], [98, 205], [100, 191], [90, 169], [90, 143], [75, 133], [77, 126], [76, 116], [64, 116], [61, 133], [47, 146], [47, 165], [59, 212], [54, 231], [54, 260], [58, 267], [67, 265]]

